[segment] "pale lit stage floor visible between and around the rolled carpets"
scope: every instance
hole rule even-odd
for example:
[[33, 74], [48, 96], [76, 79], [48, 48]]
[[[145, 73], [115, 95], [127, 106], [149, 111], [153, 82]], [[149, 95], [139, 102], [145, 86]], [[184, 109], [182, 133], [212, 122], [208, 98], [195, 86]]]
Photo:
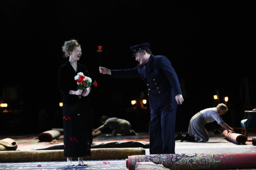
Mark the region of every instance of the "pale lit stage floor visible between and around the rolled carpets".
[[[185, 133], [185, 132], [183, 132]], [[176, 135], [178, 132], [176, 133]], [[209, 141], [193, 143], [188, 141], [180, 142], [180, 140], [176, 140], [175, 152], [178, 153], [248, 153], [255, 152], [256, 146], [252, 145], [251, 141], [248, 140], [246, 144], [239, 145], [229, 141], [225, 138], [224, 135], [214, 135], [213, 131], [209, 131]], [[248, 139], [251, 137], [256, 137], [256, 132], [248, 132]], [[7, 138], [7, 136], [0, 136], [0, 140]], [[26, 136], [9, 136], [8, 138], [12, 138], [18, 143], [18, 148], [27, 149], [32, 148], [34, 146], [38, 146], [40, 144], [36, 135], [26, 135]], [[93, 138], [93, 142], [98, 141], [119, 141], [119, 140], [136, 140], [136, 141], [149, 141], [148, 133], [138, 133], [137, 136], [109, 136], [108, 133], [102, 133], [99, 136]], [[61, 138], [57, 140], [57, 142], [61, 142]], [[20, 146], [19, 146], [20, 143]], [[26, 143], [28, 145], [26, 145]], [[43, 143], [41, 143], [42, 145]], [[129, 146], [128, 146], [129, 147]], [[22, 149], [21, 149], [22, 150]], [[146, 154], [149, 154], [149, 149], [145, 148]], [[1, 161], [1, 160], [0, 160]], [[0, 170], [9, 170], [13, 169], [46, 169], [46, 170], [72, 170], [72, 169], [127, 169], [126, 168], [126, 160], [86, 160], [86, 163], [92, 165], [88, 167], [66, 167], [66, 161], [43, 161], [43, 162], [0, 162]], [[107, 164], [104, 164], [106, 162]], [[109, 162], [109, 163], [108, 163]], [[77, 160], [73, 160], [75, 165], [78, 164]], [[42, 167], [38, 167], [37, 165], [43, 165]]]

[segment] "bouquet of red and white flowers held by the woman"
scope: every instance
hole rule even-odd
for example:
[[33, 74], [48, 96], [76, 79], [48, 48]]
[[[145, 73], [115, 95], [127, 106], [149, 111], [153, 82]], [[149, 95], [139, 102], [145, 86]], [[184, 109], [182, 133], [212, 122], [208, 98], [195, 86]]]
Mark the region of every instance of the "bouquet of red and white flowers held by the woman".
[[[77, 73], [75, 76], [75, 81], [77, 83], [77, 89], [85, 90], [86, 88], [90, 87], [92, 85], [92, 79], [83, 75], [82, 72]], [[93, 85], [97, 87], [97, 82], [96, 80], [94, 81]], [[81, 99], [81, 95], [78, 96], [78, 98]]]

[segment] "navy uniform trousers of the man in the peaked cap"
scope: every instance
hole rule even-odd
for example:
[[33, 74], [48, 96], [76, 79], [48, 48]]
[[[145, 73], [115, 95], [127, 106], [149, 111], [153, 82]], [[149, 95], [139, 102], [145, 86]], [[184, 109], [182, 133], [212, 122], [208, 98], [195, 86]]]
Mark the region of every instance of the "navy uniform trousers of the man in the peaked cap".
[[149, 153], [175, 154], [175, 121], [177, 103], [151, 109]]

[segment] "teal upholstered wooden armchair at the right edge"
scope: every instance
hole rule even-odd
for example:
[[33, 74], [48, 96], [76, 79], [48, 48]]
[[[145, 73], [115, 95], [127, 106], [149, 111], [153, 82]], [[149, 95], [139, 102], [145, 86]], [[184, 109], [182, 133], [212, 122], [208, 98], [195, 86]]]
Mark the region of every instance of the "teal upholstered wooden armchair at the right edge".
[[241, 120], [242, 135], [248, 137], [248, 131], [256, 131], [256, 111], [244, 111], [244, 118]]

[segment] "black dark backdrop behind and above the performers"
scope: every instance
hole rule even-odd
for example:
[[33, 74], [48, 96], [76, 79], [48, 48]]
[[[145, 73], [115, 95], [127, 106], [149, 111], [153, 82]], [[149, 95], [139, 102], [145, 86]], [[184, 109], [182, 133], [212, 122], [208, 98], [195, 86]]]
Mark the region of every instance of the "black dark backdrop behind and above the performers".
[[198, 111], [215, 107], [217, 91], [220, 103], [229, 97], [224, 121], [240, 127], [243, 111], [256, 107], [255, 16], [252, 1], [2, 1], [0, 96], [8, 107], [1, 112], [23, 111], [16, 122], [11, 113], [1, 113], [2, 133], [62, 128], [58, 71], [66, 62], [61, 47], [70, 39], [82, 44], [79, 62], [98, 82], [90, 94], [93, 128], [101, 125], [101, 115], [108, 115], [147, 131], [148, 110], [126, 109], [146, 84], [98, 71], [100, 63], [109, 69], [136, 67], [130, 46], [146, 42], [153, 55], [169, 58], [180, 80], [184, 102], [178, 106], [177, 131], [186, 131]]

